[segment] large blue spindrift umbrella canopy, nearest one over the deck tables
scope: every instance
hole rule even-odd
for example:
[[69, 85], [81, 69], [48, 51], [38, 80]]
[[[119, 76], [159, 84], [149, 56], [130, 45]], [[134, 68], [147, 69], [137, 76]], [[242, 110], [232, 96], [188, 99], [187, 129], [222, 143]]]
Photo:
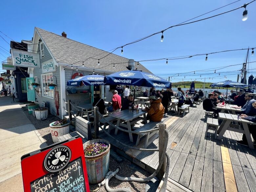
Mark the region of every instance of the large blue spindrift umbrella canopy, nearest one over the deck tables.
[[135, 85], [135, 86], [143, 86], [143, 87], [160, 87], [160, 88], [171, 88], [172, 83], [166, 81], [165, 79], [151, 74], [142, 72], [139, 70], [131, 70], [131, 71], [120, 71], [117, 73], [113, 73], [111, 75], [107, 75], [104, 78], [104, 83], [115, 85]]

